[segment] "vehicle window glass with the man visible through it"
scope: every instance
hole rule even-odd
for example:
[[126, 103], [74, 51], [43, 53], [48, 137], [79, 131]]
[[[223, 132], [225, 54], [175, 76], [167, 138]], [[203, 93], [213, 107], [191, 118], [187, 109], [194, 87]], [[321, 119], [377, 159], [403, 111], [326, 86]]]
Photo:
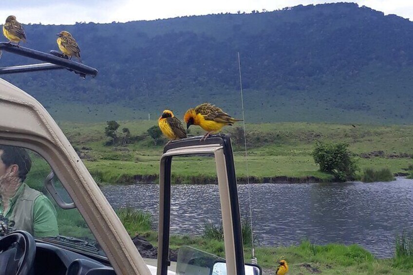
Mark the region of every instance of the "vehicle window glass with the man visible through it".
[[[62, 209], [45, 188], [51, 171], [38, 153], [0, 145], [0, 234], [24, 230], [38, 240], [103, 256], [79, 211]], [[53, 182], [58, 196], [72, 203], [56, 177]]]

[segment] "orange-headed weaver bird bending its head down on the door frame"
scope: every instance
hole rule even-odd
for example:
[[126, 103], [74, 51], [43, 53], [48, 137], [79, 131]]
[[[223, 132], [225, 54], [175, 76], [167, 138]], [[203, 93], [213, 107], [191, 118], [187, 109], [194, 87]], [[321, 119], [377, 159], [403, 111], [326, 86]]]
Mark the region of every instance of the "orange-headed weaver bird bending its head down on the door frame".
[[184, 115], [187, 129], [191, 125], [198, 125], [207, 131], [203, 139], [207, 139], [209, 134], [221, 131], [226, 125], [232, 125], [240, 119], [235, 119], [229, 114], [210, 103], [203, 103], [195, 108], [187, 110]]

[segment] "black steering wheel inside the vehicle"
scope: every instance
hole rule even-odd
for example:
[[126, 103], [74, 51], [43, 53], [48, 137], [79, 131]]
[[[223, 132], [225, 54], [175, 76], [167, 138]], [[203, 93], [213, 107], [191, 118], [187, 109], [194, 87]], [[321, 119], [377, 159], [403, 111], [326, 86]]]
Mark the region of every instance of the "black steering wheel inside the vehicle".
[[36, 255], [36, 242], [26, 231], [0, 238], [0, 275], [29, 275]]

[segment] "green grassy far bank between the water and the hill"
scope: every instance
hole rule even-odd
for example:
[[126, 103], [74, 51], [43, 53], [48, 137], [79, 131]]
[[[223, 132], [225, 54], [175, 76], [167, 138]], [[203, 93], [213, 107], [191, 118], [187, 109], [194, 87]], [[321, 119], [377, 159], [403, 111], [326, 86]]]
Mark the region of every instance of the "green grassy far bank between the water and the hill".
[[[130, 130], [133, 142], [105, 146], [105, 123], [60, 123], [86, 167], [99, 184], [157, 183], [163, 142], [154, 145], [147, 129], [156, 121], [119, 122]], [[239, 183], [246, 182], [243, 146], [236, 128], [232, 135]], [[191, 134], [200, 134], [194, 128]], [[413, 126], [336, 125], [275, 123], [247, 125], [248, 170], [251, 183], [331, 182], [331, 175], [318, 171], [311, 152], [318, 140], [347, 142], [357, 155], [360, 174], [364, 168], [387, 167], [394, 174], [405, 173], [413, 163]], [[119, 136], [122, 133], [118, 133]], [[179, 157], [172, 164], [173, 182], [209, 184], [216, 182], [215, 164], [210, 157]]]

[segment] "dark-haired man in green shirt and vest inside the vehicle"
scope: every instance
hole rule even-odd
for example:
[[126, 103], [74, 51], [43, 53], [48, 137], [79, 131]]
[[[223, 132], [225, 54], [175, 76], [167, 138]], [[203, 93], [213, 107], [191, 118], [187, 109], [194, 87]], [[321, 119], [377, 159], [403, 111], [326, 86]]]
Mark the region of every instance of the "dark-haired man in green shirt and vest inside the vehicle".
[[9, 220], [9, 226], [34, 237], [56, 236], [54, 205], [44, 194], [24, 183], [31, 166], [25, 149], [0, 145], [0, 216]]

